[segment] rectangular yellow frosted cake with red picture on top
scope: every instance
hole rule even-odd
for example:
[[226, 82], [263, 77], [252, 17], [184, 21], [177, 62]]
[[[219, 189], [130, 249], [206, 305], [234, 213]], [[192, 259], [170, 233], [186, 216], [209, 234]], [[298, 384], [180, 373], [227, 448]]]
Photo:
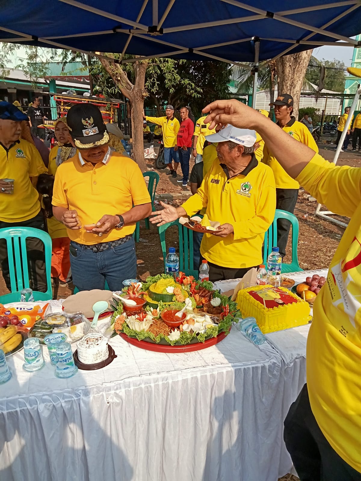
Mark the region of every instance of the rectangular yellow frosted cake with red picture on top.
[[263, 334], [307, 324], [309, 304], [284, 287], [248, 287], [237, 294], [243, 317], [255, 317]]

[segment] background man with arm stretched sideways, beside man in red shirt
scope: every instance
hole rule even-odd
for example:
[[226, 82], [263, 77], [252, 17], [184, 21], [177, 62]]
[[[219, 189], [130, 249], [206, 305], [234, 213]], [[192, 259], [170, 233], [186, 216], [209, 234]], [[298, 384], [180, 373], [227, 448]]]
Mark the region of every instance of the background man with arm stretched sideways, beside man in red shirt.
[[[179, 154], [177, 147], [177, 134], [180, 127], [178, 119], [174, 116], [174, 108], [172, 105], [167, 105], [165, 117], [148, 117], [143, 114], [143, 118], [162, 127], [163, 143], [164, 143], [164, 163], [168, 164], [168, 175], [177, 177], [177, 168], [179, 165]], [[174, 167], [172, 168], [172, 159]]]

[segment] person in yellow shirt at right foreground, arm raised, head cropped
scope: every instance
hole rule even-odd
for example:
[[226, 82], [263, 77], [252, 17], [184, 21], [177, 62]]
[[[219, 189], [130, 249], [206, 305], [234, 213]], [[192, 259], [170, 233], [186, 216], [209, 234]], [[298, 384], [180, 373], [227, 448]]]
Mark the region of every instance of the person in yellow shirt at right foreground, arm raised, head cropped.
[[215, 101], [210, 127], [257, 130], [285, 172], [319, 203], [350, 217], [327, 282], [313, 306], [307, 384], [284, 422], [284, 440], [301, 480], [361, 480], [361, 169], [335, 166], [236, 100]]

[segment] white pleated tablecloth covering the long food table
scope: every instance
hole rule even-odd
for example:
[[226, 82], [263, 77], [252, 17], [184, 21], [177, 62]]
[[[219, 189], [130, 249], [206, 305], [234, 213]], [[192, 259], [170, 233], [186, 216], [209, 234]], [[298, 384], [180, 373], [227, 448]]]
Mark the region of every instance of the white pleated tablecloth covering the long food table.
[[232, 327], [189, 354], [117, 336], [109, 366], [68, 380], [47, 349], [32, 374], [14, 354], [0, 386], [0, 480], [275, 481], [292, 466], [283, 420], [306, 380], [307, 333], [269, 334], [258, 348]]

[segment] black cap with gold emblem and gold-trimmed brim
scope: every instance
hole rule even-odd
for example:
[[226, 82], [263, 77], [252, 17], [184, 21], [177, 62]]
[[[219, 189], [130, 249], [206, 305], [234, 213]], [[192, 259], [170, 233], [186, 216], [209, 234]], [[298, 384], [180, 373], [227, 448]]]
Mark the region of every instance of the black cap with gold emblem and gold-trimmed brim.
[[91, 149], [109, 142], [102, 113], [91, 103], [78, 103], [70, 107], [66, 122], [78, 149]]

